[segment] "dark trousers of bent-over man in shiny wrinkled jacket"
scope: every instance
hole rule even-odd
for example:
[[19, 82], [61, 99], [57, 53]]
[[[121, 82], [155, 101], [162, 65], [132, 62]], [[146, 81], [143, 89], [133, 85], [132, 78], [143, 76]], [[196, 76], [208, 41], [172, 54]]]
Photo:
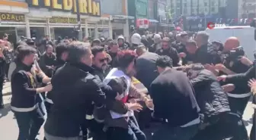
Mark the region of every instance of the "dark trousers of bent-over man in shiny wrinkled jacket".
[[223, 113], [219, 115], [219, 120], [206, 126], [205, 129], [197, 132], [192, 140], [248, 140], [247, 131], [242, 118], [238, 114]]

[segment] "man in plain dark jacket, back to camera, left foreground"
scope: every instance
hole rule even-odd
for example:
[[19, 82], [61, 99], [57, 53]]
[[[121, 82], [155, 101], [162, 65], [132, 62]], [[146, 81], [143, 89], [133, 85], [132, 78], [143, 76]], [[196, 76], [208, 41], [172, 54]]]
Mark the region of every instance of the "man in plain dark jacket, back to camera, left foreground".
[[[44, 126], [47, 140], [78, 139], [85, 114], [94, 102], [104, 107], [105, 94], [93, 72], [89, 46], [69, 46], [67, 63], [53, 75], [53, 106]], [[85, 92], [86, 91], [86, 92]]]

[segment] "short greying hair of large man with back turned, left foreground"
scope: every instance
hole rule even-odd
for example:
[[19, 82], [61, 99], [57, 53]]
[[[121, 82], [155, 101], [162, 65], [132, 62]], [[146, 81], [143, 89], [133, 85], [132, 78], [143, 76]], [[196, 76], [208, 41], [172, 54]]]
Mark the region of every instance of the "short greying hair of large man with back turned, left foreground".
[[91, 51], [89, 46], [85, 46], [82, 44], [70, 44], [68, 45], [69, 48], [69, 56], [67, 61], [73, 64], [80, 63], [82, 57], [86, 54], [89, 54]]

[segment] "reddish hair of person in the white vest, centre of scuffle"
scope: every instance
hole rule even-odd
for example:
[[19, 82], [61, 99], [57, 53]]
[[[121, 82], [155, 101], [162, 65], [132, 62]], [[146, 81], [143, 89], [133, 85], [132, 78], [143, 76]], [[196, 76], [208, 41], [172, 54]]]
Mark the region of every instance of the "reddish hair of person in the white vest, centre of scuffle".
[[137, 57], [137, 54], [135, 51], [131, 50], [123, 50], [117, 52], [117, 58], [115, 61], [117, 61], [117, 67], [126, 69], [128, 65], [135, 61]]

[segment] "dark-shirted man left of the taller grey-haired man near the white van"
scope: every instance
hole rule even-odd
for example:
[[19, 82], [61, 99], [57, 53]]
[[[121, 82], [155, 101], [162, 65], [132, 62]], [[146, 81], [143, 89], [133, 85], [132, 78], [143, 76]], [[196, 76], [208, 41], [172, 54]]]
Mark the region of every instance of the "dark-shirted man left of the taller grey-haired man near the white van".
[[175, 48], [171, 47], [169, 42], [170, 40], [168, 37], [165, 37], [164, 39], [162, 39], [161, 41], [162, 48], [159, 48], [158, 50], [156, 50], [155, 53], [158, 55], [167, 55], [168, 57], [171, 58], [173, 67], [178, 67], [180, 66], [179, 64], [180, 58], [178, 55], [178, 51]]

